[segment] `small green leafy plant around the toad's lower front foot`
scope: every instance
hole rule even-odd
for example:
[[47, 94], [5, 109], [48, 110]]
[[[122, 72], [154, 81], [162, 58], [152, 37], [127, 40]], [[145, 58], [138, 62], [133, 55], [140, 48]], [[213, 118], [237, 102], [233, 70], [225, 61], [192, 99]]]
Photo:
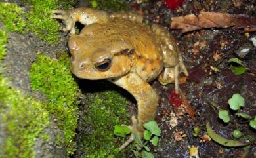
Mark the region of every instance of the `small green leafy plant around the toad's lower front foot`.
[[[158, 127], [156, 121], [149, 121], [148, 123], [144, 123], [143, 127], [145, 128], [143, 132], [144, 142], [140, 140], [139, 133], [135, 135], [133, 153], [136, 157], [142, 158], [154, 158], [154, 155], [150, 153], [150, 148], [147, 144], [150, 142], [153, 146], [158, 146], [158, 140], [161, 136], [161, 129]], [[129, 134], [131, 130], [129, 130], [126, 126], [116, 125], [114, 129], [114, 134], [116, 136], [126, 136]]]

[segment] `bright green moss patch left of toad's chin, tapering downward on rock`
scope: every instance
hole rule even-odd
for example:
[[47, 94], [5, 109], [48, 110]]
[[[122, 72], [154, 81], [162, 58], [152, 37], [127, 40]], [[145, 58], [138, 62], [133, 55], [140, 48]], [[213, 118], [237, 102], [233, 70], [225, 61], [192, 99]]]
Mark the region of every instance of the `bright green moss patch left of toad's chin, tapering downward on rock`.
[[32, 64], [30, 77], [32, 90], [43, 92], [49, 102], [45, 107], [58, 120], [58, 126], [64, 131], [64, 144], [68, 154], [74, 152], [75, 128], [77, 127], [78, 86], [70, 73], [68, 59], [54, 60], [39, 55]]

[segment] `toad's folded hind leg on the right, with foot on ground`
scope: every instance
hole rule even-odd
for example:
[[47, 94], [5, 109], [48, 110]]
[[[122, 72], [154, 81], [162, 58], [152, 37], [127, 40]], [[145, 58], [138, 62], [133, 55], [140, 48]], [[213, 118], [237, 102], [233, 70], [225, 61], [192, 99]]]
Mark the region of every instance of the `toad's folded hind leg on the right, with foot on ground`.
[[162, 26], [158, 24], [152, 25], [152, 31], [155, 34], [156, 40], [161, 44], [161, 49], [163, 52], [163, 73], [161, 73], [158, 80], [162, 84], [175, 83], [175, 92], [179, 93], [179, 73], [182, 71], [186, 76], [188, 76], [188, 71], [183, 63], [181, 53], [179, 48], [175, 43], [175, 39], [165, 30]]

